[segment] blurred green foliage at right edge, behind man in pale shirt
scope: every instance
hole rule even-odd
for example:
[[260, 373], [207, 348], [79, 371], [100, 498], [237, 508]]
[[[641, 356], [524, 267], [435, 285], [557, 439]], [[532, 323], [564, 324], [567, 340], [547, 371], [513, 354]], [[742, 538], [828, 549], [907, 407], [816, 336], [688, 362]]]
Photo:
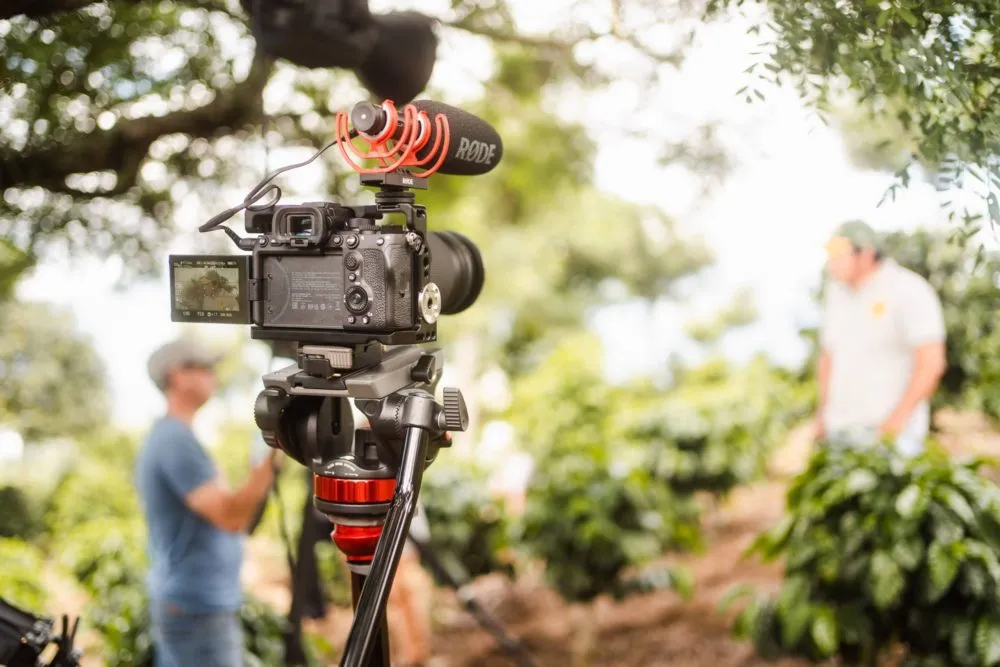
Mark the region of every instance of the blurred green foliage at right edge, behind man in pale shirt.
[[890, 234], [885, 247], [926, 278], [941, 299], [948, 369], [932, 407], [968, 408], [1000, 419], [1000, 253], [926, 230]]

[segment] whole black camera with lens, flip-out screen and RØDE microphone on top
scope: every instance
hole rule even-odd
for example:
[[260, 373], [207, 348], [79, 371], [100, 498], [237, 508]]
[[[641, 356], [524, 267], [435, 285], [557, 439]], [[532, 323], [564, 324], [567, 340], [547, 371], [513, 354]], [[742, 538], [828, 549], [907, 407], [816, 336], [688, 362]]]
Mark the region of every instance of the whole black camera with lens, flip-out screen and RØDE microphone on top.
[[[408, 130], [419, 142], [410, 147], [413, 162], [438, 158], [444, 173], [476, 173], [499, 161], [500, 138], [483, 121], [439, 103], [412, 106], [426, 119]], [[443, 110], [464, 133], [443, 137], [427, 110]], [[402, 131], [387, 131], [396, 114], [361, 103], [351, 117], [365, 137], [407, 141]], [[256, 237], [234, 241], [250, 255], [171, 256], [172, 319], [251, 324], [254, 338], [314, 345], [436, 340], [438, 317], [472, 305], [485, 275], [468, 238], [428, 232], [427, 211], [410, 192], [426, 189], [426, 176], [400, 167], [362, 172], [362, 184], [378, 188], [368, 205], [246, 205], [244, 227]]]

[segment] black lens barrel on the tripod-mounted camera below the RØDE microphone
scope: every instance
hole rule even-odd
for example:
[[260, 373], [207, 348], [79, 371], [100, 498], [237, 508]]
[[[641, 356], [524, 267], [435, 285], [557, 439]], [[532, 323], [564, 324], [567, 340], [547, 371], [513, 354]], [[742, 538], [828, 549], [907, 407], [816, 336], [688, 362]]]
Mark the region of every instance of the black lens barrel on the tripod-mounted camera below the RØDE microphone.
[[486, 279], [479, 249], [458, 232], [431, 232], [431, 282], [441, 290], [441, 312], [460, 313], [479, 298]]

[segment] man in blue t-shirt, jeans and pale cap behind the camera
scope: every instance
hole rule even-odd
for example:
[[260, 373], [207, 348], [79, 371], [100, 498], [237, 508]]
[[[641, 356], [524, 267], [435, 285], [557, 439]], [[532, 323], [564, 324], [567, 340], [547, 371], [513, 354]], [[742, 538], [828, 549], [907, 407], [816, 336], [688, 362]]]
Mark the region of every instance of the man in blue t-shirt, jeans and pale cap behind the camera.
[[147, 586], [157, 667], [242, 667], [243, 534], [274, 479], [275, 450], [230, 490], [191, 423], [215, 393], [219, 358], [190, 340], [164, 345], [149, 376], [167, 400], [135, 479], [149, 527]]

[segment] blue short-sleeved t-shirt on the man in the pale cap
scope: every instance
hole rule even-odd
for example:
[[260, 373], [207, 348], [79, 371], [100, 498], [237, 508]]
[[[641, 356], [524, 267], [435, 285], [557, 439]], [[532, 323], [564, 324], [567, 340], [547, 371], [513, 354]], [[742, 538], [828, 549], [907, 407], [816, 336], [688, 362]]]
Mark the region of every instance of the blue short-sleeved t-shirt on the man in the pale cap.
[[187, 424], [164, 417], [153, 425], [135, 479], [149, 526], [147, 586], [157, 602], [190, 612], [240, 607], [243, 536], [216, 528], [184, 503], [216, 474]]

